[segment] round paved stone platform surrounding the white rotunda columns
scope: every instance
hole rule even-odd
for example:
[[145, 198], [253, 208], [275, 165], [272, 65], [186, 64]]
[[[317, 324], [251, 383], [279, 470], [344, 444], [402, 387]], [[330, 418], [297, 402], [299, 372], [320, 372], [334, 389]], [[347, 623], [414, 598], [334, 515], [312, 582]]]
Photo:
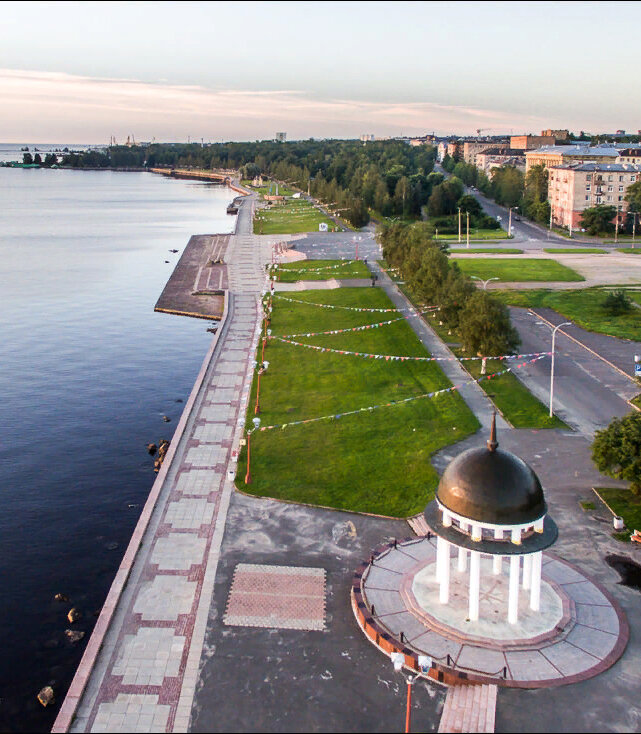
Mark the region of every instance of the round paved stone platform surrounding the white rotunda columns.
[[[544, 553], [539, 612], [521, 587], [519, 620], [507, 621], [508, 561], [492, 572], [481, 559], [479, 620], [468, 618], [466, 572], [450, 561], [448, 604], [435, 580], [436, 538], [418, 538], [379, 549], [357, 570], [352, 604], [365, 634], [386, 653], [432, 659], [430, 677], [443, 682], [493, 682], [538, 688], [590, 678], [613, 665], [628, 640], [628, 625], [616, 601], [575, 566]], [[469, 563], [469, 559], [468, 559]]]

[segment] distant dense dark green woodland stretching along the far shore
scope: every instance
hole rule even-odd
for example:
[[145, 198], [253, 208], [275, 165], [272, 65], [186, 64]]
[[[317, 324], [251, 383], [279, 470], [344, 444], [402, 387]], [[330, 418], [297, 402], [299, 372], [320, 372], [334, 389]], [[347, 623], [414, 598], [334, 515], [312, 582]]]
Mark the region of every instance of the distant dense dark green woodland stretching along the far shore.
[[361, 227], [369, 221], [369, 210], [383, 216], [420, 216], [440, 181], [432, 175], [435, 159], [433, 147], [412, 147], [395, 140], [366, 145], [354, 140], [304, 140], [113, 146], [105, 152], [69, 154], [62, 164], [240, 169], [248, 179], [262, 174], [310, 190]]

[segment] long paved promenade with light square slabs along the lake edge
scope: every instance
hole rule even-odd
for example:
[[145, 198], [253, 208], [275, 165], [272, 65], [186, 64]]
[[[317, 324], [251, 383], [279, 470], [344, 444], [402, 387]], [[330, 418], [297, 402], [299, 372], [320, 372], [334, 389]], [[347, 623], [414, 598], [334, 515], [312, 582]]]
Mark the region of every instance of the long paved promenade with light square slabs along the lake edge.
[[186, 731], [258, 341], [271, 240], [243, 202], [205, 358], [53, 731]]

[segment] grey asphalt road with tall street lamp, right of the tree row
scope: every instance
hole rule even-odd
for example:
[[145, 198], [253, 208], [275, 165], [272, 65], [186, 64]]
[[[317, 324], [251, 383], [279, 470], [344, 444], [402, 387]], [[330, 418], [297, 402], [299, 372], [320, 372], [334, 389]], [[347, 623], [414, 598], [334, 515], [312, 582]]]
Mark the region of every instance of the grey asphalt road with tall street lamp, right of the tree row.
[[[549, 351], [550, 327], [526, 309], [511, 308], [512, 323], [521, 337], [523, 352]], [[566, 328], [572, 334], [574, 326]], [[550, 398], [550, 359], [516, 370], [514, 374], [546, 405]], [[584, 436], [605, 428], [614, 417], [631, 412], [626, 398], [638, 392], [631, 380], [590, 354], [563, 334], [556, 336], [554, 412]]]

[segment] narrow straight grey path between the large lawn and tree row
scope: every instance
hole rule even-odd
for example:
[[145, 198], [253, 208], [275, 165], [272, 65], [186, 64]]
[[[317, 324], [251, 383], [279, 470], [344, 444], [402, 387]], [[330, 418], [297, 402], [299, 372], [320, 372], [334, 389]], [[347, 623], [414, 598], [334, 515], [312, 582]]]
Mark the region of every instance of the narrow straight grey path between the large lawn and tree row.
[[[392, 303], [397, 308], [408, 308], [412, 304], [401, 293], [394, 281], [385, 273], [377, 263], [368, 263], [370, 270], [378, 275], [378, 284], [387, 293]], [[454, 354], [447, 348], [441, 338], [425, 323], [424, 319], [409, 319], [407, 322], [415, 331], [421, 343], [425, 346], [430, 354], [435, 357], [441, 357], [445, 361], [439, 362], [439, 367], [443, 370], [453, 385], [462, 385], [459, 393], [465, 401], [468, 408], [478, 418], [482, 426], [489, 426], [492, 420], [492, 413], [495, 408], [487, 395], [479, 387], [479, 384], [466, 372], [461, 363], [454, 358]], [[499, 428], [507, 428], [508, 424], [502, 416], [496, 417], [497, 426]]]

